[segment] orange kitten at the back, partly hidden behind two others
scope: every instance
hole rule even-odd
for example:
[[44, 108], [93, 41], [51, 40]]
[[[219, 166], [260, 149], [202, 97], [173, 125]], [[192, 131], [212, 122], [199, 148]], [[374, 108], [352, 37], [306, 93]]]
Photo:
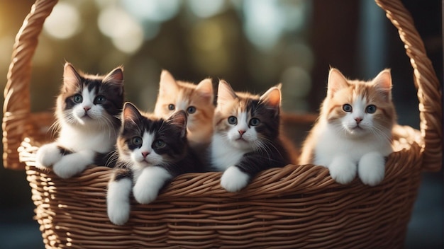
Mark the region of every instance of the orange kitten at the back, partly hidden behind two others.
[[159, 94], [155, 104], [155, 115], [170, 117], [177, 110], [188, 116], [187, 138], [193, 149], [206, 148], [213, 134], [214, 93], [211, 79], [199, 84], [176, 81], [169, 71], [160, 74]]

